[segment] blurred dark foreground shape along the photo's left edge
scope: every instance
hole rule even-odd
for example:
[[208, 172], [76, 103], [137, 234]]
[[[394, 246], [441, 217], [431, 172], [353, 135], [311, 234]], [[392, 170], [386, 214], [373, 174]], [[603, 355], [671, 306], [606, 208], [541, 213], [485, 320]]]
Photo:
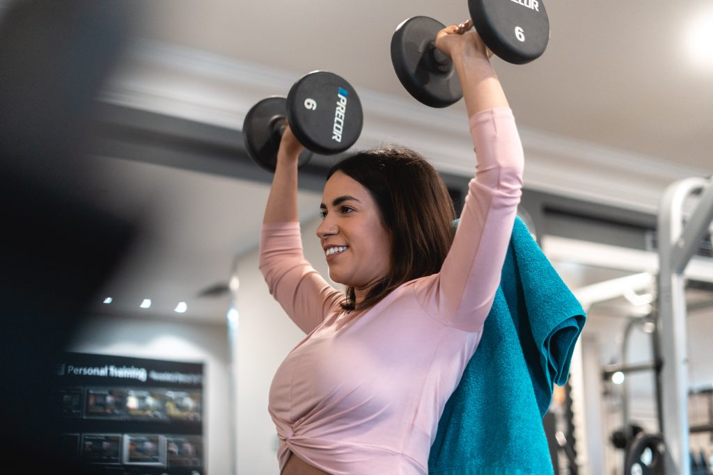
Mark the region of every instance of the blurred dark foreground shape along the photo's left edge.
[[[78, 473], [53, 422], [53, 362], [133, 234], [72, 193], [129, 4], [36, 1], [0, 17], [0, 457], [12, 473]], [[86, 168], [86, 167], [84, 167]]]

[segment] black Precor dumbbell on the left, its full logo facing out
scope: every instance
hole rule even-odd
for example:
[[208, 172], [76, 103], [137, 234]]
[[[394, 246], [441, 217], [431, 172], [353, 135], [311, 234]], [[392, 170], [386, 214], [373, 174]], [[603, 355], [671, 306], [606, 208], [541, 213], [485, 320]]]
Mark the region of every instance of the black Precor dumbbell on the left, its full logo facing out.
[[287, 98], [260, 100], [245, 115], [245, 148], [257, 165], [275, 172], [277, 150], [285, 125], [306, 149], [299, 166], [312, 153], [334, 155], [354, 145], [361, 134], [364, 115], [352, 85], [334, 73], [313, 71], [292, 85]]

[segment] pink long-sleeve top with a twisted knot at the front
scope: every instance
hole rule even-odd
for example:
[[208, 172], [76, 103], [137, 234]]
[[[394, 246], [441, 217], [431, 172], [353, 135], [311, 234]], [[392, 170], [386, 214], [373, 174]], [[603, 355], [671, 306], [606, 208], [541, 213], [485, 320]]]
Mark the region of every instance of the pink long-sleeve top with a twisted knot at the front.
[[260, 270], [307, 336], [279, 366], [269, 409], [280, 469], [291, 453], [334, 475], [426, 474], [443, 407], [481, 339], [520, 201], [510, 109], [470, 119], [476, 176], [441, 271], [363, 312], [304, 259], [299, 224], [262, 228]]

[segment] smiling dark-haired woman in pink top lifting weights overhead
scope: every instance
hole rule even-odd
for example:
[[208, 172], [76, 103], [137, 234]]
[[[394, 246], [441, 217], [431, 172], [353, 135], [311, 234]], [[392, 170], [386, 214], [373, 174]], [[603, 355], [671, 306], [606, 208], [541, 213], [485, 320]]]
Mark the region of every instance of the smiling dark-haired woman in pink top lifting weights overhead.
[[478, 150], [458, 230], [433, 167], [399, 148], [337, 164], [317, 229], [333, 281], [304, 260], [297, 156], [282, 137], [260, 268], [307, 337], [277, 370], [270, 414], [283, 475], [426, 474], [438, 418], [481, 338], [522, 187], [523, 150], [470, 21], [438, 33]]

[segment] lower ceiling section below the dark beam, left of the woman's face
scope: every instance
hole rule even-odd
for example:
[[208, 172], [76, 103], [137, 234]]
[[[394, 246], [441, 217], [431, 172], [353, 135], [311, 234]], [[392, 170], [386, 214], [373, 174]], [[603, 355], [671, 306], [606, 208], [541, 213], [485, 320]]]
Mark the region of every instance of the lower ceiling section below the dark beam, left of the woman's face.
[[[255, 250], [266, 184], [111, 157], [91, 157], [91, 182], [75, 192], [138, 226], [132, 245], [93, 308], [109, 315], [145, 315], [225, 323], [234, 257]], [[315, 219], [319, 194], [301, 192], [300, 216]], [[111, 305], [103, 299], [111, 296]], [[151, 306], [140, 309], [143, 299]], [[174, 309], [185, 302], [188, 311]]]

